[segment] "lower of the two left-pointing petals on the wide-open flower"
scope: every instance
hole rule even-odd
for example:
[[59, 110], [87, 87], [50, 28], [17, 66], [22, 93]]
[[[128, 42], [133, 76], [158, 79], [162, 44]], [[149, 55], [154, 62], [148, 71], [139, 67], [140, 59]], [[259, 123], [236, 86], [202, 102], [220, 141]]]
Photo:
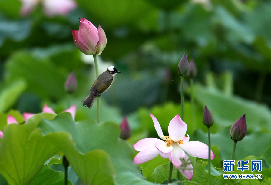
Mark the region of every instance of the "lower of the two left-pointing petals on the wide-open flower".
[[155, 158], [159, 153], [160, 151], [157, 150], [157, 148], [149, 148], [143, 150], [136, 155], [136, 157], [134, 158], [134, 163], [135, 164], [145, 163]]

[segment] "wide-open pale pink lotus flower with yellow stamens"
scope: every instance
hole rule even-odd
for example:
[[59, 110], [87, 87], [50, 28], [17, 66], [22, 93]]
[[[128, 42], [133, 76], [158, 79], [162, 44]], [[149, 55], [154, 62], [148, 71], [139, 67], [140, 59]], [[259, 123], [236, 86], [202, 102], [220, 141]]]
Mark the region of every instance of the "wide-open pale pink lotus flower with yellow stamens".
[[[163, 158], [169, 158], [172, 164], [178, 167], [188, 180], [191, 180], [193, 169], [187, 154], [208, 159], [208, 146], [199, 141], [189, 141], [189, 136], [185, 136], [187, 125], [179, 115], [176, 115], [169, 123], [169, 136], [164, 136], [156, 117], [152, 114], [150, 116], [158, 136], [164, 141], [157, 138], [145, 138], [138, 141], [134, 144], [134, 149], [140, 152], [134, 158], [134, 163], [141, 164], [147, 162], [160, 154]], [[215, 155], [211, 150], [211, 159], [214, 157]], [[185, 167], [181, 166], [183, 161], [187, 164]]]

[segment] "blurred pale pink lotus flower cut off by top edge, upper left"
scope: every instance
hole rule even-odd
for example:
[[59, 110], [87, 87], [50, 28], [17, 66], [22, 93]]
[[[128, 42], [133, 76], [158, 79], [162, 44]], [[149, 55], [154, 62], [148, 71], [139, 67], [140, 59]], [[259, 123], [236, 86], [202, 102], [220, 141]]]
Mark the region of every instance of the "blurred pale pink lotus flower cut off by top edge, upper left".
[[76, 8], [76, 2], [73, 0], [21, 0], [21, 14], [27, 15], [33, 11], [35, 6], [40, 2], [44, 13], [47, 16], [67, 15], [71, 10]]

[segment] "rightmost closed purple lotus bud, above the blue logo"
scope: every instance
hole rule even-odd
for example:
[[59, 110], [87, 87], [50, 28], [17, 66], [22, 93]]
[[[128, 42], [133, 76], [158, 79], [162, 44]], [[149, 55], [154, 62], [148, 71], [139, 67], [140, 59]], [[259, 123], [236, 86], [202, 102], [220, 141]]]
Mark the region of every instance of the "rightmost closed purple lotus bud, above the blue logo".
[[230, 136], [234, 141], [240, 141], [246, 136], [246, 114], [236, 120], [230, 128]]

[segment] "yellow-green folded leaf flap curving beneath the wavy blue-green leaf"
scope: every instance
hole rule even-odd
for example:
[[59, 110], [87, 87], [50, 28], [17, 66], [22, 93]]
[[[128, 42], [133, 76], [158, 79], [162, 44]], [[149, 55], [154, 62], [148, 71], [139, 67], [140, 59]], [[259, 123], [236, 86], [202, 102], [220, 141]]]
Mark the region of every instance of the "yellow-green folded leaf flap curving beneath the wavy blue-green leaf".
[[[59, 123], [61, 122], [55, 124]], [[84, 185], [114, 184], [116, 172], [109, 155], [103, 150], [93, 150], [83, 155], [75, 150], [70, 134], [53, 132], [47, 136], [47, 139], [64, 153]]]

